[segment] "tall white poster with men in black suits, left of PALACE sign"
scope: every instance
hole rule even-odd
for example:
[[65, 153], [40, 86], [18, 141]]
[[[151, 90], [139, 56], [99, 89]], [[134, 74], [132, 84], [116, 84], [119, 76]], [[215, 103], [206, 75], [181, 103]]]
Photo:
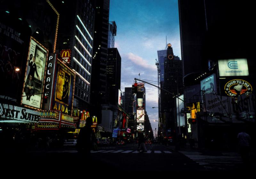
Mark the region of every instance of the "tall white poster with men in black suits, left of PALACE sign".
[[21, 99], [27, 107], [41, 108], [47, 55], [48, 50], [31, 37]]

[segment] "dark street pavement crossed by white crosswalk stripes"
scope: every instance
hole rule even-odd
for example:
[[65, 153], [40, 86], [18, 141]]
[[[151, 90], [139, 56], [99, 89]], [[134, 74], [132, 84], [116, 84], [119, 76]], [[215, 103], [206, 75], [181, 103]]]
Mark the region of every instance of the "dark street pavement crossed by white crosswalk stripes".
[[[100, 146], [91, 151], [92, 160], [84, 159], [75, 147], [30, 149], [6, 153], [6, 166], [18, 163], [19, 168], [38, 169], [85, 168], [90, 171], [167, 171], [167, 172], [229, 172], [244, 171], [241, 157], [236, 152], [206, 151], [160, 144], [147, 145], [147, 152], [139, 153], [137, 144]], [[2, 158], [1, 158], [2, 159]], [[87, 169], [86, 169], [87, 168]], [[242, 169], [242, 170], [241, 170]], [[251, 169], [251, 168], [250, 168]], [[248, 171], [248, 169], [247, 169]]]

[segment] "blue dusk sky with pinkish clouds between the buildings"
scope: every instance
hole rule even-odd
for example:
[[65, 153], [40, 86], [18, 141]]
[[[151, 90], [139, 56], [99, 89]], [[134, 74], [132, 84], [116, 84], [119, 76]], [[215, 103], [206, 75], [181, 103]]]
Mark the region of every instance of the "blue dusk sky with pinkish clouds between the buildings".
[[[121, 90], [132, 87], [134, 78], [157, 86], [157, 50], [172, 44], [181, 58], [178, 0], [110, 0], [109, 21], [115, 21], [115, 48], [122, 58]], [[140, 73], [140, 77], [139, 77]], [[139, 81], [137, 81], [139, 82]], [[154, 131], [158, 122], [157, 88], [146, 84], [146, 111]]]

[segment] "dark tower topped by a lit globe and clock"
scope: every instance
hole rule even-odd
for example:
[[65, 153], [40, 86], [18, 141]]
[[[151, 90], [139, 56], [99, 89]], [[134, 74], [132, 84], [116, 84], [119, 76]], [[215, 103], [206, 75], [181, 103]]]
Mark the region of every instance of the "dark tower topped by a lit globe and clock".
[[[183, 75], [182, 75], [182, 61], [179, 57], [174, 56], [171, 44], [168, 44], [166, 55], [164, 56], [164, 81], [160, 83], [160, 86], [173, 93], [179, 95], [183, 93]], [[174, 135], [173, 131], [176, 131], [176, 106], [174, 97], [172, 94], [161, 90], [160, 93], [160, 127], [159, 130], [163, 132], [164, 136]], [[172, 134], [167, 133], [172, 131]]]

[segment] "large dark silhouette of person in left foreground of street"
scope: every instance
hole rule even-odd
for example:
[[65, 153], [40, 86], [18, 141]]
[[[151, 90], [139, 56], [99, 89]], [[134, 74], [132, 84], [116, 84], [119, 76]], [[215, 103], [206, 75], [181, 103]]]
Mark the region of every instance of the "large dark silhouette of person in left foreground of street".
[[92, 117], [87, 117], [85, 126], [82, 129], [80, 129], [80, 132], [77, 137], [76, 149], [79, 155], [85, 158], [85, 160], [92, 160], [91, 148], [96, 139], [91, 126]]

